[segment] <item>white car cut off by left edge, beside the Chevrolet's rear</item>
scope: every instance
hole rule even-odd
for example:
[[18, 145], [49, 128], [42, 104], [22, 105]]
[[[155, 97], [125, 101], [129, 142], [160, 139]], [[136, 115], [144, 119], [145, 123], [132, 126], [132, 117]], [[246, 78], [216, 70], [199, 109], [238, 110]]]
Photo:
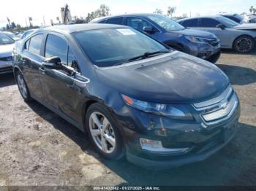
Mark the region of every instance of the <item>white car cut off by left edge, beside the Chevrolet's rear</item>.
[[0, 74], [12, 73], [12, 50], [15, 41], [6, 33], [0, 32]]

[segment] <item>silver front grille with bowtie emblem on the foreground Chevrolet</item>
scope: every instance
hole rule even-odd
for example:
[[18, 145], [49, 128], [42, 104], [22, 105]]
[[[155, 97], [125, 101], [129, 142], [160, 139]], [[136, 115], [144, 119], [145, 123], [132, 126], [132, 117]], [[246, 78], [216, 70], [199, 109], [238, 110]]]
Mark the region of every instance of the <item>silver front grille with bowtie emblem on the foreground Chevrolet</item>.
[[217, 98], [193, 104], [193, 106], [200, 112], [200, 117], [206, 125], [214, 125], [226, 120], [233, 114], [238, 106], [238, 98], [236, 93], [233, 92], [233, 88], [229, 86]]

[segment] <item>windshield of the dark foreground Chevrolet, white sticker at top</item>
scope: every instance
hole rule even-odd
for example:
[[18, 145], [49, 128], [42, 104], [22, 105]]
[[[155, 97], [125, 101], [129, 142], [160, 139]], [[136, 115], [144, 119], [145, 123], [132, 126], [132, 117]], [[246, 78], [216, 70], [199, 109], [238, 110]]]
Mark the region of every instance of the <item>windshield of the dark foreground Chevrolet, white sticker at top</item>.
[[91, 62], [99, 67], [127, 63], [145, 53], [167, 52], [167, 48], [132, 28], [105, 28], [74, 33]]

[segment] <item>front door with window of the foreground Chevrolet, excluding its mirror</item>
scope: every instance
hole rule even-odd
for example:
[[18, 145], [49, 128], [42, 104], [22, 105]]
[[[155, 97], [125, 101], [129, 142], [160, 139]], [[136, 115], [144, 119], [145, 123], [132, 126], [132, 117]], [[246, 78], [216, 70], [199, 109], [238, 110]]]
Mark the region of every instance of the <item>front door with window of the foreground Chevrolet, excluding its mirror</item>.
[[[57, 33], [49, 33], [45, 40], [45, 58], [58, 56], [61, 63], [76, 69], [79, 73], [80, 68], [77, 62], [77, 53], [69, 47], [67, 39]], [[78, 103], [81, 99], [81, 88], [77, 85], [78, 76], [72, 76], [63, 70], [43, 69], [42, 87], [48, 95], [48, 104], [65, 116], [78, 122]], [[84, 82], [85, 82], [84, 81]]]

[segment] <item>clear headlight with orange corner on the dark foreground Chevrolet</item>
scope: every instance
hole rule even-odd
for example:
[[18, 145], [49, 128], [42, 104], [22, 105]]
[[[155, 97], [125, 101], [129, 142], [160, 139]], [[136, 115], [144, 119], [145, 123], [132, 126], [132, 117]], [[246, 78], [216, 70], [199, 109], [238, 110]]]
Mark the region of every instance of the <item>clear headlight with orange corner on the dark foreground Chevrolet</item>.
[[185, 109], [184, 106], [140, 101], [135, 98], [130, 98], [127, 95], [121, 95], [121, 97], [123, 98], [125, 104], [143, 112], [164, 115], [176, 120], [193, 120], [192, 115], [187, 111], [187, 109]]

